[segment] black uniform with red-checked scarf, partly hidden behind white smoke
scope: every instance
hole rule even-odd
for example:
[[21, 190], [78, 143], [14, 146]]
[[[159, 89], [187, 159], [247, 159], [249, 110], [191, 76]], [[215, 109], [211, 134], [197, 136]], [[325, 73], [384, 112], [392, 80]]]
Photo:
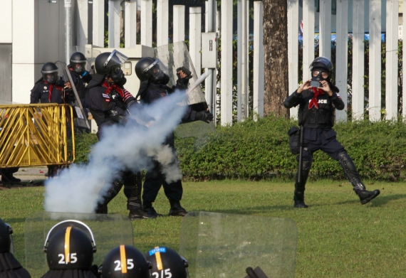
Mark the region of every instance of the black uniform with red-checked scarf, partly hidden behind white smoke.
[[[126, 109], [132, 105], [138, 105], [135, 98], [123, 86], [111, 85], [107, 82], [91, 87], [85, 100], [98, 124], [98, 139], [100, 139], [104, 127], [124, 123], [121, 121], [125, 121], [127, 118]], [[134, 174], [132, 171], [123, 171], [120, 181], [107, 185], [109, 187], [108, 195], [103, 197], [104, 203], [98, 204], [96, 213], [107, 213], [107, 204], [120, 192], [123, 184], [124, 194], [127, 197], [127, 209], [141, 210], [141, 174], [140, 172]]]

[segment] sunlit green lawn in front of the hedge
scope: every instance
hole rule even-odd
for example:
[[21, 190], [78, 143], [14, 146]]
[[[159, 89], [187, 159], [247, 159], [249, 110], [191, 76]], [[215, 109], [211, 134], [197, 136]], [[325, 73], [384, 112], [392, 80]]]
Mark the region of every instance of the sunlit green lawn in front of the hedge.
[[[366, 182], [380, 189], [371, 203], [360, 205], [343, 181], [308, 183], [308, 209], [293, 208], [293, 182], [210, 181], [184, 183], [187, 210], [291, 218], [298, 227], [295, 277], [405, 277], [406, 183]], [[121, 192], [109, 213], [127, 214]], [[163, 191], [155, 202], [167, 215]], [[43, 187], [0, 191], [0, 218], [14, 229], [16, 257], [25, 264], [24, 221], [43, 210]], [[182, 218], [133, 221], [135, 247], [156, 245], [179, 250]]]

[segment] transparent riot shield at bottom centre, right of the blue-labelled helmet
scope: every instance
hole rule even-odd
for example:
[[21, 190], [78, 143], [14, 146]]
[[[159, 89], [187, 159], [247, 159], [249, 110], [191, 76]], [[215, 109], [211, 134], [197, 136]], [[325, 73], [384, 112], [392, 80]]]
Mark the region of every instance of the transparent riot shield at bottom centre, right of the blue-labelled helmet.
[[287, 218], [192, 212], [182, 220], [179, 255], [191, 278], [287, 278], [294, 277], [296, 243]]

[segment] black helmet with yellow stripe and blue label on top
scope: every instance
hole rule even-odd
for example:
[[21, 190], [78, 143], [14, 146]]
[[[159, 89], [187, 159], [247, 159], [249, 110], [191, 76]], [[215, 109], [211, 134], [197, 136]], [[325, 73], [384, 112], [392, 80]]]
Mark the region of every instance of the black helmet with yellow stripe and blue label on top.
[[162, 246], [155, 247], [145, 254], [145, 258], [152, 264], [152, 277], [189, 277], [189, 273], [187, 272], [189, 264], [187, 260], [180, 257], [179, 254], [171, 248]]

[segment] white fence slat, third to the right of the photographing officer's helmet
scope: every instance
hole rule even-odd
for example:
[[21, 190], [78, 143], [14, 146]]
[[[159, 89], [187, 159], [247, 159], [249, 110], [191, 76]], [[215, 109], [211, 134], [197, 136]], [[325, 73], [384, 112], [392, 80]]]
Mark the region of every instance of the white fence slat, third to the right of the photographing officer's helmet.
[[370, 0], [369, 119], [380, 120], [381, 109], [381, 0]]

